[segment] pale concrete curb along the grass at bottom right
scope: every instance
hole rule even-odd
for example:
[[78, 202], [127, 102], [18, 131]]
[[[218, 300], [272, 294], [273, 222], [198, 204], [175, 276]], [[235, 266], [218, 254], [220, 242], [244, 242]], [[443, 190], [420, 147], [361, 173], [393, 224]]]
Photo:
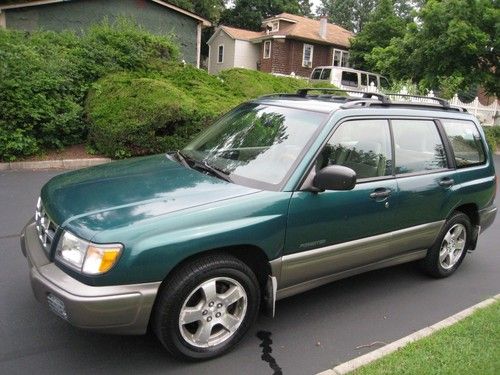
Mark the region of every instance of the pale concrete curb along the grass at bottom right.
[[471, 306], [463, 311], [460, 311], [459, 313], [452, 315], [444, 320], [441, 320], [440, 322], [433, 324], [431, 326], [425, 327], [417, 332], [414, 332], [406, 337], [403, 337], [402, 339], [399, 339], [397, 341], [391, 342], [390, 344], [387, 344], [379, 349], [376, 349], [372, 352], [369, 352], [367, 354], [364, 354], [360, 357], [354, 358], [350, 361], [344, 362], [333, 369], [330, 370], [325, 370], [323, 372], [320, 372], [316, 375], [344, 375], [348, 374], [351, 371], [354, 371], [358, 369], [361, 366], [367, 365], [370, 362], [373, 362], [379, 358], [382, 358], [390, 353], [395, 352], [398, 349], [401, 349], [402, 347], [408, 345], [411, 342], [417, 341], [419, 339], [422, 339], [424, 337], [427, 337], [440, 329], [449, 327], [462, 319], [465, 319], [469, 315], [471, 315], [473, 312], [475, 312], [478, 309], [482, 309], [486, 306], [491, 305], [492, 303], [500, 301], [500, 294], [497, 294], [494, 297], [488, 298], [482, 302], [479, 302], [478, 304]]

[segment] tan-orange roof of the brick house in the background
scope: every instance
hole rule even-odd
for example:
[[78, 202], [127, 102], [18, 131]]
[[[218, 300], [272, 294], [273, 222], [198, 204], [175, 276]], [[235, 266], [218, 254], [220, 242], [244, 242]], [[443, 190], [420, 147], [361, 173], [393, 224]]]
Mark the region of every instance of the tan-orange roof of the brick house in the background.
[[320, 21], [290, 13], [281, 13], [274, 17], [267, 18], [264, 20], [263, 24], [266, 25], [275, 20], [288, 21], [292, 22], [292, 24], [284, 30], [280, 27], [280, 30], [269, 32], [269, 34], [262, 32], [261, 38], [266, 36], [285, 36], [289, 38], [305, 39], [317, 43], [349, 47], [349, 39], [354, 36], [354, 33], [343, 27], [327, 23], [326, 36], [322, 38], [319, 35]]

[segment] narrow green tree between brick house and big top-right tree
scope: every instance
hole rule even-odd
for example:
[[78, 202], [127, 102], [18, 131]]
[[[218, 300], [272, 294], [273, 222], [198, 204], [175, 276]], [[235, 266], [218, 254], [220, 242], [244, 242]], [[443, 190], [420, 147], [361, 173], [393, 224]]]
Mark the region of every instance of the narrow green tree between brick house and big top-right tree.
[[358, 69], [376, 70], [369, 57], [372, 50], [387, 47], [392, 38], [403, 37], [406, 24], [396, 15], [393, 0], [380, 0], [364, 28], [351, 40], [351, 63]]

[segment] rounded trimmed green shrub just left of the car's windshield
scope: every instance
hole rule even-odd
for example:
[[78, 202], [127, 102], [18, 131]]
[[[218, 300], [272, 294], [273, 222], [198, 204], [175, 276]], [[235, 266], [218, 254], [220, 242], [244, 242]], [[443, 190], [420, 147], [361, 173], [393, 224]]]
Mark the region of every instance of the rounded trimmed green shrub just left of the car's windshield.
[[94, 86], [89, 107], [90, 141], [114, 158], [179, 148], [199, 131], [195, 102], [167, 80], [112, 75]]

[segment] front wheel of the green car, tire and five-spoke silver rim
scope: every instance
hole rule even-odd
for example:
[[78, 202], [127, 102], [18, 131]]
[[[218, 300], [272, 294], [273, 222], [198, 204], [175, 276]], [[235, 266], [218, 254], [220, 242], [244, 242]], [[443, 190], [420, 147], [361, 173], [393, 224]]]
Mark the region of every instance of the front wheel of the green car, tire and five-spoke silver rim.
[[152, 327], [175, 357], [206, 360], [231, 350], [257, 318], [260, 288], [252, 270], [230, 255], [182, 266], [158, 295]]

